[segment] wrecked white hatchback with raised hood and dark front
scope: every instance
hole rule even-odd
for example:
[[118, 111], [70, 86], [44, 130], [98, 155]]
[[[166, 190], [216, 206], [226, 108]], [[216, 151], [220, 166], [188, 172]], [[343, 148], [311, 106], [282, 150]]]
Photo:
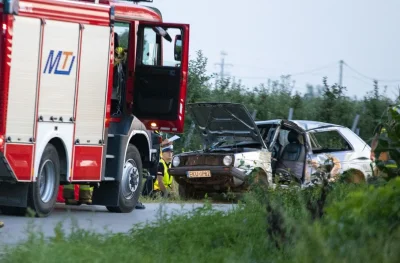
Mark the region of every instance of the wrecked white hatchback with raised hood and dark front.
[[188, 110], [205, 147], [172, 160], [169, 173], [182, 197], [241, 192], [249, 187], [249, 175], [274, 187], [289, 174], [291, 181], [304, 185], [316, 164], [329, 156], [333, 174], [352, 169], [364, 181], [372, 174], [370, 147], [346, 127], [314, 121], [255, 122], [236, 103], [194, 103]]

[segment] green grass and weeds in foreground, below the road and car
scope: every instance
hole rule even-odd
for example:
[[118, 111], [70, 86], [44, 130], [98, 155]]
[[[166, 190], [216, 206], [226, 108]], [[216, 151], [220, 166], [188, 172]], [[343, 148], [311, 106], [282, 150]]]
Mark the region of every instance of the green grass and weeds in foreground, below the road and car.
[[[50, 241], [31, 234], [26, 243], [8, 248], [1, 262], [399, 261], [400, 178], [379, 187], [337, 184], [323, 217], [312, 220], [305, 203], [315, 204], [320, 194], [321, 189], [254, 192], [230, 212], [206, 201], [185, 215], [160, 211], [157, 223], [128, 234], [76, 228], [66, 236], [59, 227]], [[267, 202], [273, 212], [267, 213]], [[271, 236], [267, 219], [277, 215], [282, 230]]]

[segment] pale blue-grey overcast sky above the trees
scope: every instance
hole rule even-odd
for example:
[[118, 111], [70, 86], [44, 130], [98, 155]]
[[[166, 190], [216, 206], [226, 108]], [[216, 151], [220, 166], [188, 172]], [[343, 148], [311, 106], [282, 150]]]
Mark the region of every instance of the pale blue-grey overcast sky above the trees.
[[[144, 3], [143, 3], [144, 4]], [[294, 91], [339, 82], [362, 98], [373, 79], [394, 97], [400, 87], [400, 0], [154, 0], [165, 22], [190, 24], [190, 57], [202, 50], [209, 73], [253, 87], [292, 74]], [[302, 73], [302, 74], [297, 74]]]

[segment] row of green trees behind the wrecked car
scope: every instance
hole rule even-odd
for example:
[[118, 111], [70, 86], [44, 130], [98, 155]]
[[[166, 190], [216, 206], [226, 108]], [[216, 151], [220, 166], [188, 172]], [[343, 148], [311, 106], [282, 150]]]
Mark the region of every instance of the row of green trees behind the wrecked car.
[[[293, 90], [290, 76], [268, 80], [249, 89], [233, 78], [221, 80], [208, 74], [207, 61], [201, 50], [190, 60], [187, 103], [242, 103], [250, 113], [256, 113], [256, 120], [287, 119], [289, 109], [293, 108], [294, 120], [322, 121], [351, 128], [358, 114], [359, 136], [370, 143], [383, 112], [389, 105], [399, 102], [399, 96], [389, 98], [386, 88], [379, 87], [376, 82], [362, 99], [347, 96], [346, 87], [329, 83], [327, 78], [321, 80], [321, 85], [307, 86], [305, 94]], [[175, 143], [176, 151], [201, 148], [201, 138], [193, 127], [190, 114], [186, 114], [185, 132], [180, 136]]]

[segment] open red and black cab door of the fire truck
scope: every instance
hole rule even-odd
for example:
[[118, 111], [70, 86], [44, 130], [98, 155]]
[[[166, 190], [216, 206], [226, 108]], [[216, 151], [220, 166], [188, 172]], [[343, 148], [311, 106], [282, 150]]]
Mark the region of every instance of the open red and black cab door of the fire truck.
[[140, 22], [132, 113], [149, 130], [182, 133], [189, 64], [189, 25]]

